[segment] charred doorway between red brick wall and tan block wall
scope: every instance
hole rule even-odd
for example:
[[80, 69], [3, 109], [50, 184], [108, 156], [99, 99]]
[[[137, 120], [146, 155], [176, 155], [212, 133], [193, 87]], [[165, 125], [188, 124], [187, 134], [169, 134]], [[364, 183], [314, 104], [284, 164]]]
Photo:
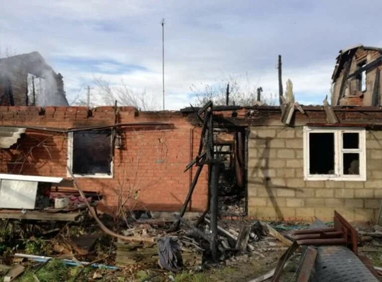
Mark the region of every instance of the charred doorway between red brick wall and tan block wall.
[[214, 153], [220, 162], [218, 208], [221, 216], [247, 214], [248, 129], [214, 129]]

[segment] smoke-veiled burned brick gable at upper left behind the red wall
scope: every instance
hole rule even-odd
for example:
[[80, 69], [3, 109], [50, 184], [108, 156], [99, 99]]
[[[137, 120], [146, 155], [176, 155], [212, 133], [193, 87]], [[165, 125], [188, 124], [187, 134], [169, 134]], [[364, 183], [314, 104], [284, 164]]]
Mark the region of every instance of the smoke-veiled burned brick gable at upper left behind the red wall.
[[1, 106], [69, 106], [61, 74], [38, 52], [0, 59]]

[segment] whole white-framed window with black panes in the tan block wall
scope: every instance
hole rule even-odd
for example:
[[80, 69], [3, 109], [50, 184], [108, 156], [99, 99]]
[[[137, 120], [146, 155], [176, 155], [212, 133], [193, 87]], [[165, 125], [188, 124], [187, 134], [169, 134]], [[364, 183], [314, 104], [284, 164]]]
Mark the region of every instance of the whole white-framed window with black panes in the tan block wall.
[[366, 180], [365, 130], [304, 129], [306, 180]]

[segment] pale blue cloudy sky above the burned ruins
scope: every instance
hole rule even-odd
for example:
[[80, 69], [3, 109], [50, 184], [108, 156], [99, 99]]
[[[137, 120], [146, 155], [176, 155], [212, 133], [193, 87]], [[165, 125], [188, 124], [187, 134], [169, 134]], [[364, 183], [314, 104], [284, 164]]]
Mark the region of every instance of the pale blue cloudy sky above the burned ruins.
[[[193, 102], [192, 84], [229, 75], [278, 93], [277, 56], [283, 81], [293, 81], [298, 101], [321, 103], [329, 93], [338, 50], [378, 45], [378, 0], [339, 1], [22, 1], [0, 0], [0, 47], [39, 51], [64, 77], [69, 100], [102, 76], [122, 79], [161, 101], [162, 27], [165, 24], [166, 105]], [[22, 6], [22, 8], [20, 8]], [[340, 11], [340, 12], [339, 12]], [[83, 92], [85, 93], [85, 92]]]

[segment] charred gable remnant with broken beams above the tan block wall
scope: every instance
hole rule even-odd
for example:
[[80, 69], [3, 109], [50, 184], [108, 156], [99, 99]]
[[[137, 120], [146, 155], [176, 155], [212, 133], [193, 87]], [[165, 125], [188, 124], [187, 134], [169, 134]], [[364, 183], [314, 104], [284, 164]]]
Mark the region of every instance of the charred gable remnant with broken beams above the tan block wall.
[[381, 105], [382, 48], [340, 50], [332, 75], [332, 105]]

